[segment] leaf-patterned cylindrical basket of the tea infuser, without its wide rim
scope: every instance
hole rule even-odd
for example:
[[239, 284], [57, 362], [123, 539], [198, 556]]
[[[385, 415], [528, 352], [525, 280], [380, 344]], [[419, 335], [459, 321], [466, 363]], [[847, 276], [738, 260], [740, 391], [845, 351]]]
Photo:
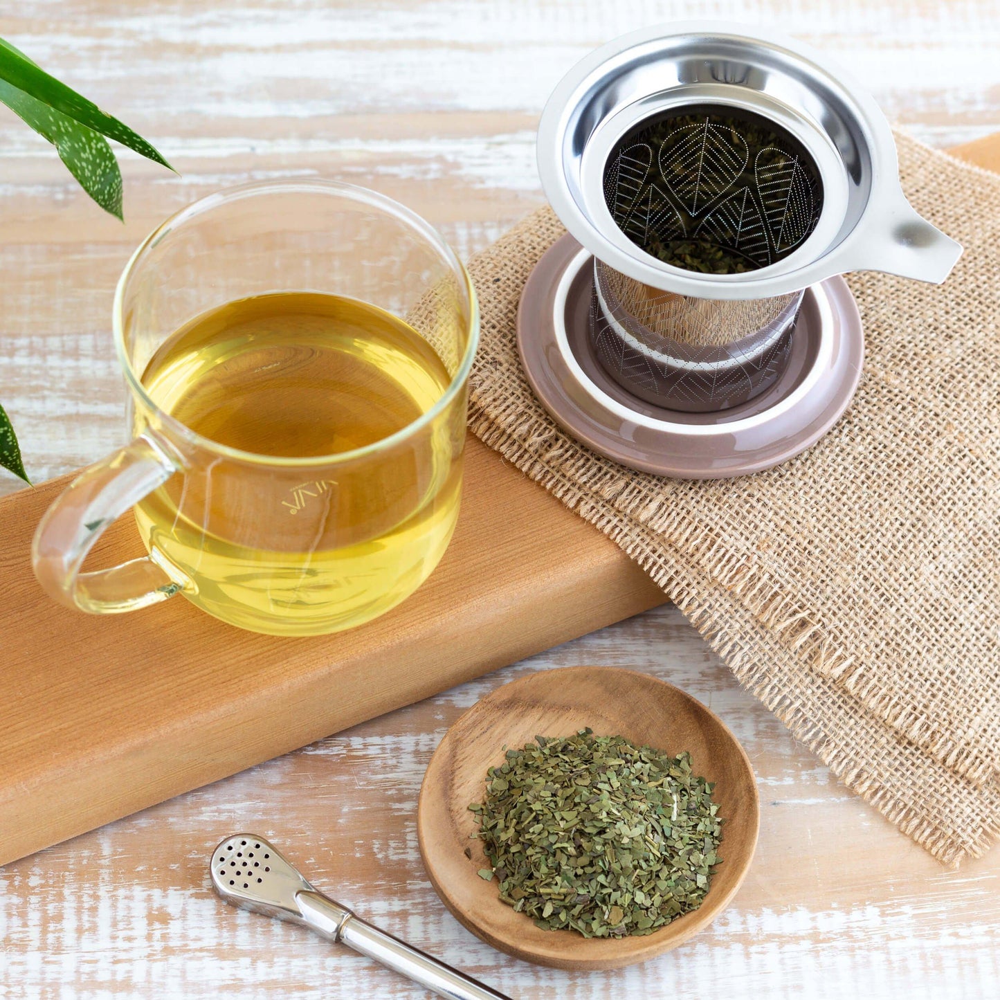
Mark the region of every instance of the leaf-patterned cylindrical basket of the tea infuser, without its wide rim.
[[[643, 251], [710, 275], [783, 259], [823, 207], [818, 171], [798, 140], [760, 115], [711, 106], [687, 105], [626, 134], [608, 158], [604, 196]], [[693, 298], [598, 261], [592, 343], [635, 395], [676, 409], [725, 409], [778, 377], [801, 299]]]

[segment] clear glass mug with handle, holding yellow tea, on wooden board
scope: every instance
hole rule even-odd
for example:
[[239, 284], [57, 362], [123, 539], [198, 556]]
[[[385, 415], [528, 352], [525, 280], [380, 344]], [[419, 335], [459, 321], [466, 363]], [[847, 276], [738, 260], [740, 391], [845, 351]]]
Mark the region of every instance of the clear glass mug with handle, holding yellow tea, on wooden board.
[[[278, 635], [382, 614], [454, 530], [478, 336], [465, 269], [388, 198], [295, 180], [190, 205], [118, 283], [135, 437], [46, 512], [38, 580], [84, 611], [183, 594]], [[132, 507], [149, 554], [83, 572]]]

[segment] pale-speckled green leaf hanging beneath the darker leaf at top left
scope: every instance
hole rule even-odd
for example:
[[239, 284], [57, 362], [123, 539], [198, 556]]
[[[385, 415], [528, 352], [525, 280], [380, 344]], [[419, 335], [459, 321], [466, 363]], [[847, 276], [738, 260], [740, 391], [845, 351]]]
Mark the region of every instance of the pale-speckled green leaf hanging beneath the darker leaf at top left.
[[122, 175], [104, 136], [0, 80], [0, 101], [48, 139], [80, 186], [98, 205], [122, 218]]

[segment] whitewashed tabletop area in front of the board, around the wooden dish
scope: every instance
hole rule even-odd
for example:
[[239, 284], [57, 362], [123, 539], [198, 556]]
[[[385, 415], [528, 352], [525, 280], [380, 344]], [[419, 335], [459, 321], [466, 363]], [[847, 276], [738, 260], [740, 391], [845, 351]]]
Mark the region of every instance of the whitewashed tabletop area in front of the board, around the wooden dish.
[[[692, 941], [643, 965], [565, 973], [509, 958], [445, 910], [417, 844], [424, 771], [478, 699], [535, 670], [638, 669], [708, 705], [761, 796], [753, 866]], [[1000, 852], [942, 869], [797, 745], [671, 607], [577, 639], [0, 869], [12, 998], [422, 1000], [299, 928], [222, 904], [209, 852], [259, 830], [361, 916], [515, 1000], [991, 1000]]]

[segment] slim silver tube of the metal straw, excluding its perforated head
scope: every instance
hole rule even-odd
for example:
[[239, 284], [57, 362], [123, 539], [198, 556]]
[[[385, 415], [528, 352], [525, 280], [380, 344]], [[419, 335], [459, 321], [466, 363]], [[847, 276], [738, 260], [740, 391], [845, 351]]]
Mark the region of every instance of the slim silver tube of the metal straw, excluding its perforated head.
[[374, 958], [440, 996], [450, 1000], [510, 1000], [505, 994], [380, 931], [321, 892], [298, 892], [295, 901], [302, 920], [318, 934]]

